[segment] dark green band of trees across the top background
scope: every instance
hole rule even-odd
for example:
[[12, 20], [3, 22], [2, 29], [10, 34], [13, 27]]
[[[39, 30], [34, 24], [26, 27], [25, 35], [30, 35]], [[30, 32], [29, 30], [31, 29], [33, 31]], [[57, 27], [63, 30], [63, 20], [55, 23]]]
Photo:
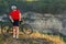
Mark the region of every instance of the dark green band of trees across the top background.
[[0, 0], [0, 14], [9, 13], [12, 4], [18, 6], [22, 12], [63, 13], [66, 10], [66, 0]]

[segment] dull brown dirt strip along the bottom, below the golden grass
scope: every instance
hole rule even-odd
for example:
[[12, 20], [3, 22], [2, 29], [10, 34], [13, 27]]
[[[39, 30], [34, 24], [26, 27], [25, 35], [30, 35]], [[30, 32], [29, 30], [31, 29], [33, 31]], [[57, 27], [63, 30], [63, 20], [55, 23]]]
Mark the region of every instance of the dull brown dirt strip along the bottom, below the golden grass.
[[53, 44], [53, 42], [47, 42], [43, 38], [18, 38], [14, 40], [9, 37], [6, 42], [7, 44]]

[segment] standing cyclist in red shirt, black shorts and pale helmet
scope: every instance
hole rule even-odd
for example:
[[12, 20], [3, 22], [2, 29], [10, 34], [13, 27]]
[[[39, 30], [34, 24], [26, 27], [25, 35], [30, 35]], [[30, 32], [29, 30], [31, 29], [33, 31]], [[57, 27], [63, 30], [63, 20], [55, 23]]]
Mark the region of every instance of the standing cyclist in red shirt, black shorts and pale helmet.
[[9, 18], [13, 24], [13, 37], [19, 38], [19, 22], [21, 21], [21, 12], [16, 6], [12, 6]]

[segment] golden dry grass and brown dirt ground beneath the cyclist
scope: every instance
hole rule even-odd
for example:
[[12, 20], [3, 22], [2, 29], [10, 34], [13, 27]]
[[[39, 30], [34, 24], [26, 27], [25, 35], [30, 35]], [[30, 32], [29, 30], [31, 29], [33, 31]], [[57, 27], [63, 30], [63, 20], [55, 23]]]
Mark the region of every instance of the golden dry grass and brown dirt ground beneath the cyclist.
[[13, 38], [12, 34], [4, 34], [4, 44], [64, 44], [58, 36], [50, 36], [41, 33], [31, 35], [21, 34], [20, 37]]

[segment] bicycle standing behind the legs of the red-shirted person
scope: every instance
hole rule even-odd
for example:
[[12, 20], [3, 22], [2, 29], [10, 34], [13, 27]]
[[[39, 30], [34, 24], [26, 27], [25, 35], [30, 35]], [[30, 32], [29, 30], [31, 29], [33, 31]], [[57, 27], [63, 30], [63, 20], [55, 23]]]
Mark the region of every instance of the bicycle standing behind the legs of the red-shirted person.
[[[11, 22], [11, 24], [12, 24], [12, 22]], [[4, 30], [7, 30], [7, 33], [10, 33], [10, 32], [12, 33], [12, 25], [10, 26], [10, 24], [4, 24], [2, 28]], [[30, 24], [21, 21], [20, 22], [20, 31], [26, 35], [30, 35], [33, 33], [33, 28]]]

